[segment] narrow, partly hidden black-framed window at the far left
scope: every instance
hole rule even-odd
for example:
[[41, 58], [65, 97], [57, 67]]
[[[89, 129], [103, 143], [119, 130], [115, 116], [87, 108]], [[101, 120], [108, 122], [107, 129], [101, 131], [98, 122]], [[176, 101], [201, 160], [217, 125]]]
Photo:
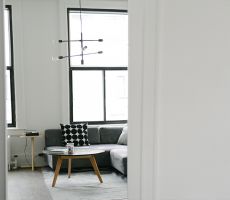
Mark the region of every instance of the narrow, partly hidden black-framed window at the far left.
[[5, 65], [6, 65], [6, 122], [8, 127], [16, 126], [15, 87], [14, 87], [14, 51], [12, 29], [12, 7], [4, 10]]

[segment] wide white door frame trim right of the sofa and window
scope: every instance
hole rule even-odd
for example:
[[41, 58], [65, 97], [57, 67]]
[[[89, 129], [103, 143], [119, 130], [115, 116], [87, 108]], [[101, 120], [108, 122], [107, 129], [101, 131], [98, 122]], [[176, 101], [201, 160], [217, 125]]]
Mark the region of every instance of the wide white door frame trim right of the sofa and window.
[[129, 1], [128, 199], [155, 200], [158, 0]]

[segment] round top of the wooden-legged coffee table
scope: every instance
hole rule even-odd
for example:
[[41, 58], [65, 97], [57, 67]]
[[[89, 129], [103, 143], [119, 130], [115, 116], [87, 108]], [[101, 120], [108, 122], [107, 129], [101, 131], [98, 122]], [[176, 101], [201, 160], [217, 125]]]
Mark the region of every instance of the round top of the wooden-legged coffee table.
[[94, 148], [81, 148], [81, 147], [74, 147], [74, 152], [69, 154], [67, 151], [67, 147], [53, 147], [44, 150], [43, 153], [47, 155], [58, 155], [58, 156], [86, 156], [86, 155], [95, 155], [105, 152], [105, 150], [101, 149], [94, 149]]

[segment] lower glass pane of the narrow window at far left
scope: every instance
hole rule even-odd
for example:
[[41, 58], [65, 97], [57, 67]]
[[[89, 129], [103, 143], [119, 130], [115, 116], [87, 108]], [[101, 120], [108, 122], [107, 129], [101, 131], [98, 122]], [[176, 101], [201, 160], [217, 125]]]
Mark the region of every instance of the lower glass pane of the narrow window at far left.
[[6, 70], [6, 122], [7, 124], [12, 123], [10, 70]]

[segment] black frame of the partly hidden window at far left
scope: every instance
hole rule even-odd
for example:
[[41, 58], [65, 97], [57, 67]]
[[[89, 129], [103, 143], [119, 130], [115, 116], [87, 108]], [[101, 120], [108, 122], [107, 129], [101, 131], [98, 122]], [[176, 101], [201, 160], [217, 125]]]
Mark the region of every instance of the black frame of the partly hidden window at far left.
[[11, 66], [6, 66], [10, 71], [10, 89], [11, 89], [11, 110], [12, 110], [12, 123], [7, 124], [8, 127], [16, 127], [16, 106], [15, 106], [15, 83], [14, 83], [14, 50], [13, 50], [13, 25], [12, 25], [12, 6], [6, 5], [9, 10], [9, 27], [10, 27], [10, 53], [11, 53]]

